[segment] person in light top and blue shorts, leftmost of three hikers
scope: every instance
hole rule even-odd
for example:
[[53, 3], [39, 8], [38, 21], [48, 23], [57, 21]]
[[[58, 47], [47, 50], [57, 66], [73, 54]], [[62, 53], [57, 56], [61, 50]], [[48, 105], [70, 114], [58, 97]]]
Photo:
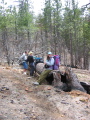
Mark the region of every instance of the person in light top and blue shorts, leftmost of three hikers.
[[22, 54], [22, 56], [19, 58], [19, 60], [22, 61], [22, 65], [23, 65], [23, 68], [24, 68], [23, 74], [27, 74], [27, 73], [26, 73], [26, 71], [27, 71], [27, 69], [28, 69], [28, 64], [27, 64], [27, 62], [26, 62], [26, 60], [27, 60], [27, 55], [28, 55], [28, 52], [25, 51], [25, 52]]

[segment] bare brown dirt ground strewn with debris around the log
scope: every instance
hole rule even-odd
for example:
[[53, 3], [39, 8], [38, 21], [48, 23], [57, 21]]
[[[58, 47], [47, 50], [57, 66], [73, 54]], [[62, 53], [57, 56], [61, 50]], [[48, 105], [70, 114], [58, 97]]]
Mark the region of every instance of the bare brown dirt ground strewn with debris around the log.
[[[90, 120], [89, 94], [35, 86], [36, 78], [29, 79], [21, 71], [0, 66], [0, 120]], [[73, 71], [80, 81], [90, 83], [89, 71]]]

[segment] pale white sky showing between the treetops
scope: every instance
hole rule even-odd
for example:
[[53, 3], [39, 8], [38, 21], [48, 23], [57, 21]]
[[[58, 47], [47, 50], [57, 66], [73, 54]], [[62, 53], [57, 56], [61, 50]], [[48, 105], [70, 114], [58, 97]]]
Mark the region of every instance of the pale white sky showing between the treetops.
[[[0, 0], [1, 2], [2, 0]], [[8, 3], [8, 5], [15, 5], [17, 2], [15, 1], [18, 1], [18, 0], [4, 0], [5, 2]], [[41, 9], [43, 9], [44, 5], [44, 1], [45, 0], [31, 0], [32, 1], [32, 4], [33, 4], [33, 9], [34, 9], [34, 13], [35, 15], [38, 15], [39, 13], [41, 13]], [[61, 0], [62, 2], [64, 0]], [[76, 0], [78, 1], [78, 6], [81, 7], [83, 5], [86, 5], [88, 3], [90, 3], [90, 0]], [[64, 4], [64, 3], [63, 3]]]

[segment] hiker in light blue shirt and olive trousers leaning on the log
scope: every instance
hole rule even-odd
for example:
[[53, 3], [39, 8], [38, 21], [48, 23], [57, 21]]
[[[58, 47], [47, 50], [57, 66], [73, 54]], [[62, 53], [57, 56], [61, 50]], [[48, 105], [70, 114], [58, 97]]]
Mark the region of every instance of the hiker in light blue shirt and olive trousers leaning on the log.
[[42, 84], [45, 81], [47, 75], [53, 70], [53, 65], [54, 58], [52, 57], [52, 52], [48, 52], [47, 60], [44, 63], [45, 70], [41, 73], [38, 82], [34, 82], [34, 85]]

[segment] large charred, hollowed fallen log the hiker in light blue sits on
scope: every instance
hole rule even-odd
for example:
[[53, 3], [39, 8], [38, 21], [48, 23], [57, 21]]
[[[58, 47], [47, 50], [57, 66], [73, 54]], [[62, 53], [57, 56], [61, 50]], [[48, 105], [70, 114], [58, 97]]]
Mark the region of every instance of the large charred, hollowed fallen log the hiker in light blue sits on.
[[[41, 74], [44, 71], [44, 64], [38, 63], [36, 65], [36, 72]], [[80, 84], [77, 75], [68, 67], [63, 73], [60, 70], [53, 70], [46, 78], [47, 84], [53, 85], [63, 91], [69, 92], [72, 90], [80, 90], [86, 92], [84, 87]]]

